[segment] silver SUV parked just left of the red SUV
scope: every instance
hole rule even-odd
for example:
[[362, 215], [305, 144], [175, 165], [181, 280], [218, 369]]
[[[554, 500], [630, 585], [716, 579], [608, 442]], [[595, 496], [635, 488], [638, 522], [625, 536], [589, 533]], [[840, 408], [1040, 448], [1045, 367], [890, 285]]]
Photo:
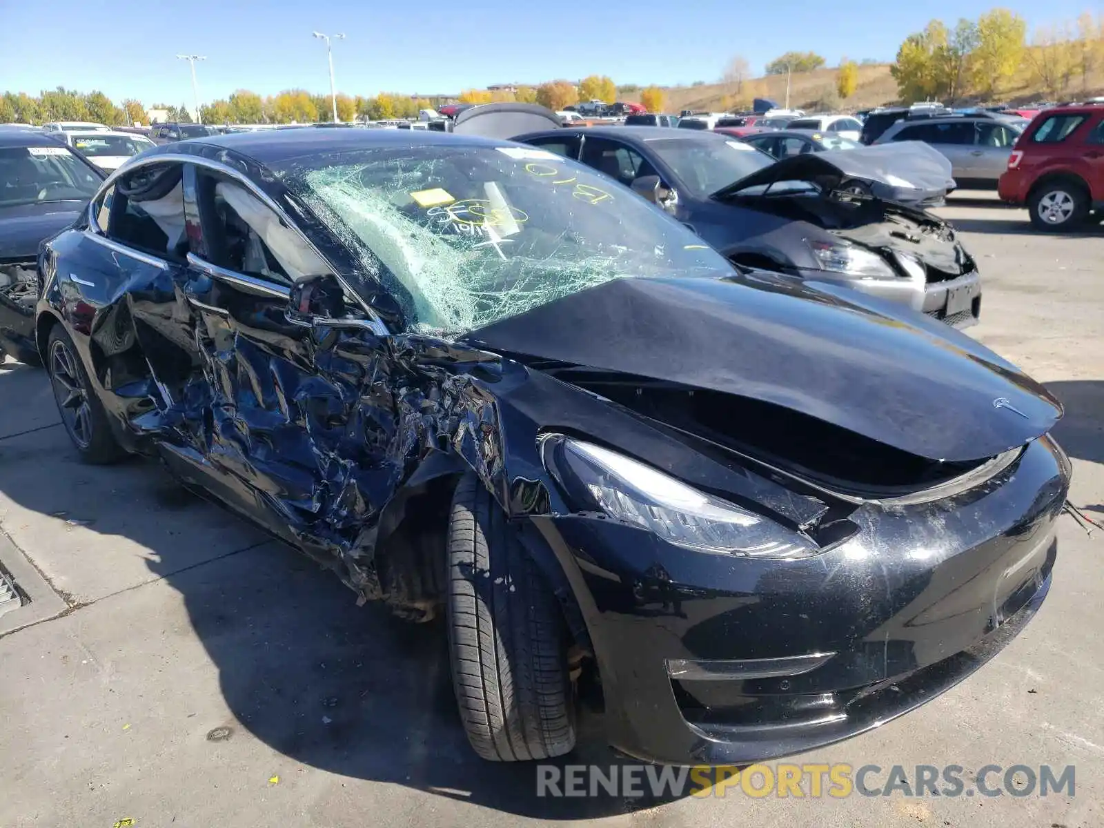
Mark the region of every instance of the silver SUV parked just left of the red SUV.
[[951, 174], [959, 188], [989, 190], [1008, 169], [1012, 145], [1027, 124], [1026, 118], [991, 116], [899, 120], [874, 144], [924, 141], [951, 161]]

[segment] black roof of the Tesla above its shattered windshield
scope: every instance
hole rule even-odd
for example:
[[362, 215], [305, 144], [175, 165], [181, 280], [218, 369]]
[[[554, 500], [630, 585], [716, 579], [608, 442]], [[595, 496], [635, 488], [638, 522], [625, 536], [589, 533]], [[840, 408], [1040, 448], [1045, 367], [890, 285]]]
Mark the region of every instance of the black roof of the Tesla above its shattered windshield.
[[[658, 129], [654, 127], [654, 129]], [[569, 130], [564, 130], [569, 131]], [[509, 141], [474, 135], [454, 135], [429, 129], [268, 129], [229, 132], [167, 144], [150, 155], [189, 152], [200, 147], [222, 147], [248, 156], [262, 164], [273, 164], [315, 152], [333, 152], [373, 147], [506, 147]]]

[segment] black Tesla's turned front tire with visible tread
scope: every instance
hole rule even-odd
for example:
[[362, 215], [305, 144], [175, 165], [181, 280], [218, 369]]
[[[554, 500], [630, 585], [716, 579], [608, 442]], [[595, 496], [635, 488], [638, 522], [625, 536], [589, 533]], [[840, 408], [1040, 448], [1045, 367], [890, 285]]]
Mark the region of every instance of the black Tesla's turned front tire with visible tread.
[[475, 752], [491, 762], [570, 752], [575, 711], [563, 616], [475, 475], [453, 496], [447, 609], [453, 687]]

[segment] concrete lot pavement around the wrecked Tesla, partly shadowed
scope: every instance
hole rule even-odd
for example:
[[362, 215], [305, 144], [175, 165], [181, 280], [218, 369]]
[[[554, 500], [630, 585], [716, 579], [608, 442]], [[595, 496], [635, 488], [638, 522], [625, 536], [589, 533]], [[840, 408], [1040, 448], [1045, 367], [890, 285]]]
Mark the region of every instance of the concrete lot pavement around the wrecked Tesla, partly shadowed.
[[[941, 212], [983, 268], [970, 333], [1065, 402], [1071, 500], [1104, 519], [1104, 227], [1040, 236], [991, 197]], [[44, 374], [11, 361], [0, 528], [0, 561], [35, 597], [0, 616], [6, 828], [1104, 825], [1104, 532], [1068, 517], [1050, 597], [1004, 652], [903, 719], [794, 762], [960, 765], [967, 778], [1074, 765], [1074, 796], [734, 789], [658, 804], [538, 798], [533, 768], [476, 758], [439, 626], [358, 608], [332, 575], [151, 464], [78, 464]], [[581, 729], [571, 762], [614, 762], [601, 716]]]

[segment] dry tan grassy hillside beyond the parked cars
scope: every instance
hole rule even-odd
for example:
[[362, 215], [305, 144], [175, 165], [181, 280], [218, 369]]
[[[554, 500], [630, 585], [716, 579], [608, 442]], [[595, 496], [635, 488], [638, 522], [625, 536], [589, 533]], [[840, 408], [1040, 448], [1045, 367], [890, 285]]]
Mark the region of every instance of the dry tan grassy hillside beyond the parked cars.
[[[667, 110], [678, 113], [682, 109], [704, 112], [724, 112], [733, 105], [743, 102], [751, 104], [753, 97], [766, 97], [777, 100], [783, 106], [786, 100], [786, 76], [772, 75], [744, 81], [743, 89], [736, 93], [733, 87], [724, 84], [707, 84], [704, 86], [671, 86], [667, 92]], [[1104, 95], [1104, 71], [1094, 72], [1083, 84], [1080, 77], [1073, 79], [1065, 92], [1065, 98], [1084, 99]], [[629, 99], [638, 99], [627, 96]], [[1020, 75], [1002, 89], [999, 100], [1010, 104], [1027, 103], [1045, 98], [1038, 85], [1031, 83], [1030, 71], [1025, 66]], [[816, 110], [827, 108], [819, 106], [820, 102], [836, 99], [836, 70], [824, 68], [816, 72], [803, 72], [790, 77], [789, 105], [798, 109]], [[870, 107], [893, 104], [898, 102], [898, 88], [890, 74], [890, 64], [871, 64], [859, 66], [859, 87], [854, 95], [846, 100], [839, 100], [834, 109], [854, 112]], [[958, 102], [962, 105], [978, 103], [975, 99]]]

